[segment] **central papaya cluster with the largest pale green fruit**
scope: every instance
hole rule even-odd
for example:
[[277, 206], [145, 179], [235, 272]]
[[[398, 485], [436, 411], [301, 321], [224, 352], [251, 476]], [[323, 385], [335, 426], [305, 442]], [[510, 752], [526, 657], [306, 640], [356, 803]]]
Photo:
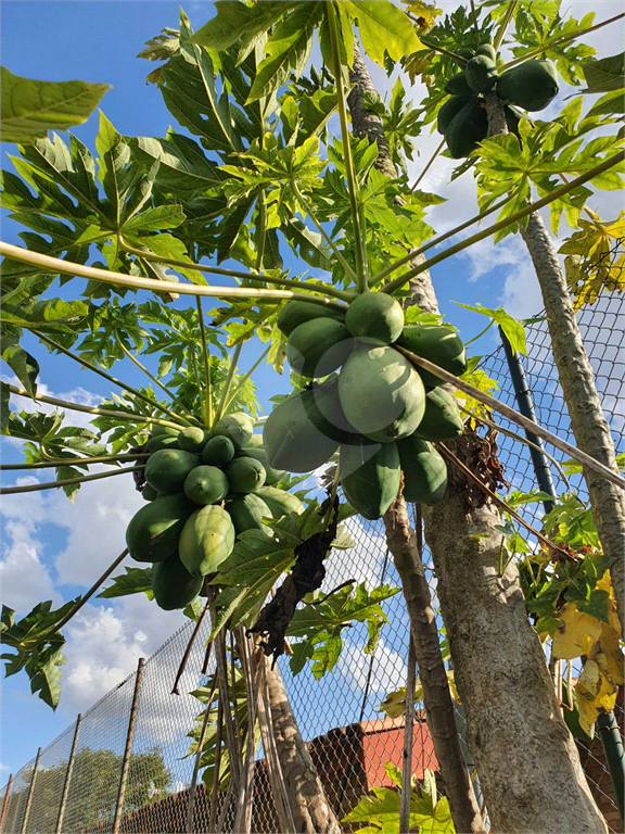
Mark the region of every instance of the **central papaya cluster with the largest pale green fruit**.
[[454, 397], [441, 388], [443, 380], [417, 369], [397, 349], [460, 375], [467, 364], [456, 331], [406, 325], [395, 299], [371, 291], [346, 313], [290, 301], [278, 327], [288, 337], [291, 366], [311, 381], [267, 418], [263, 439], [269, 464], [307, 472], [340, 450], [344, 495], [368, 519], [388, 509], [401, 472], [407, 501], [439, 501], [447, 467], [432, 442], [461, 434], [462, 419]]

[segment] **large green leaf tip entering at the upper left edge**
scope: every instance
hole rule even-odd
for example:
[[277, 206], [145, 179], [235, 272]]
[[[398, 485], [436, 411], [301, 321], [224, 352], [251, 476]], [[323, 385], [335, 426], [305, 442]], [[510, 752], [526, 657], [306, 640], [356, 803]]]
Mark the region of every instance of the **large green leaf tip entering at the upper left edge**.
[[107, 84], [87, 81], [36, 81], [1, 67], [3, 142], [31, 144], [48, 130], [67, 130], [86, 122], [106, 90]]

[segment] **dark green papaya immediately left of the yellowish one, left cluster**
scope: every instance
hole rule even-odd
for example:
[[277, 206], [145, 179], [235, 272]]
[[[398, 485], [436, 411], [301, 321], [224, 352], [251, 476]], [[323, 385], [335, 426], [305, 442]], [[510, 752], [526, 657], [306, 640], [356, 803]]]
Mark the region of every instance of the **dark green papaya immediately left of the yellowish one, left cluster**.
[[163, 561], [178, 547], [184, 522], [196, 508], [186, 495], [165, 495], [141, 507], [126, 528], [126, 545], [137, 561]]

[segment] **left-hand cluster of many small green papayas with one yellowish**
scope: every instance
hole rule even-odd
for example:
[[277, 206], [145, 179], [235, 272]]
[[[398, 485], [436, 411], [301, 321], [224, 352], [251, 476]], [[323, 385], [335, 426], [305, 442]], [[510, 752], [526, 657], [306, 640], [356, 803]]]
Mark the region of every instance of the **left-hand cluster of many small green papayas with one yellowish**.
[[128, 552], [153, 563], [152, 591], [165, 610], [183, 608], [232, 553], [244, 530], [270, 534], [263, 518], [302, 513], [296, 495], [278, 489], [285, 475], [269, 465], [260, 434], [242, 413], [177, 431], [156, 426], [146, 443], [145, 484], [150, 502], [126, 530]]

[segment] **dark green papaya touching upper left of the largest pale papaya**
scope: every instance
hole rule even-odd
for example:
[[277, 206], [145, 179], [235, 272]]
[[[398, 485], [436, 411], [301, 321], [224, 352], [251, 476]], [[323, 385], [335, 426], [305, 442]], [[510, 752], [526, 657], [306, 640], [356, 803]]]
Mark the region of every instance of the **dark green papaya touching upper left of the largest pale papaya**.
[[353, 346], [344, 324], [333, 318], [314, 318], [296, 327], [289, 337], [286, 359], [303, 377], [327, 377], [343, 365]]

